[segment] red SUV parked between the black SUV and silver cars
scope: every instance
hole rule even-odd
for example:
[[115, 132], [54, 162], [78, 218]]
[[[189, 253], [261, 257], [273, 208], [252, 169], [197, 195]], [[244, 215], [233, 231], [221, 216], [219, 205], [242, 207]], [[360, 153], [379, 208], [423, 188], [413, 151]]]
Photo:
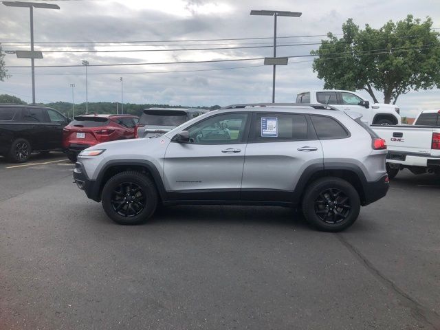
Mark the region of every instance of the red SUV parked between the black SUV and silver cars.
[[63, 151], [71, 162], [89, 146], [133, 139], [139, 117], [135, 115], [77, 115], [63, 129]]

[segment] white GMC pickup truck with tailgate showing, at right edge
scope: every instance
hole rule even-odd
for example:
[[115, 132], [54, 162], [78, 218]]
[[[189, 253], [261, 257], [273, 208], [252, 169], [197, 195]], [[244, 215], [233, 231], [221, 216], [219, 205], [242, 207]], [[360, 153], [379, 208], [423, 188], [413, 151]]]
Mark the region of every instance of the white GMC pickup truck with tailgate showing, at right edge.
[[390, 179], [403, 168], [414, 174], [440, 174], [440, 111], [422, 111], [413, 125], [374, 125], [371, 129], [386, 140]]

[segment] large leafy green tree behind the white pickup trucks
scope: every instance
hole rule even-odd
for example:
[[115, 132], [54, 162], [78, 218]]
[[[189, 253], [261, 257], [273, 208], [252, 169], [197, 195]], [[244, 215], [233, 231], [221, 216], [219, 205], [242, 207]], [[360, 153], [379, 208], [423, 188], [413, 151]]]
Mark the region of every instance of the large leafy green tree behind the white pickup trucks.
[[432, 20], [388, 21], [382, 28], [365, 25], [360, 30], [353, 19], [342, 25], [342, 37], [327, 34], [314, 60], [314, 72], [324, 79], [325, 89], [364, 89], [374, 102], [373, 89], [382, 91], [384, 102], [395, 104], [411, 89], [440, 87], [439, 32], [432, 31]]

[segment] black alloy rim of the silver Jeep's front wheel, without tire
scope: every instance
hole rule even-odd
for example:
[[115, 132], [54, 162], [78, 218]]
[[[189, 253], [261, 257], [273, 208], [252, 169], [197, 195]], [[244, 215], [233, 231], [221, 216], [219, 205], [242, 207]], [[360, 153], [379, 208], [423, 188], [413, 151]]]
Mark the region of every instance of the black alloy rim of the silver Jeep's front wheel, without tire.
[[111, 206], [122, 217], [134, 217], [146, 206], [145, 192], [133, 182], [122, 182], [111, 193]]

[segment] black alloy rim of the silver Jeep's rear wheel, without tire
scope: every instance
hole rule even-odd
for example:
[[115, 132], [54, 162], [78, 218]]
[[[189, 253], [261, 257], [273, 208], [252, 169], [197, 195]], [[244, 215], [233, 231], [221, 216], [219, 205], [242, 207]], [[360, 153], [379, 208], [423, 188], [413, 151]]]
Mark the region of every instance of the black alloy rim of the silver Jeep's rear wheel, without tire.
[[323, 190], [315, 200], [315, 212], [325, 223], [340, 223], [349, 217], [350, 199], [342, 190], [329, 188]]

